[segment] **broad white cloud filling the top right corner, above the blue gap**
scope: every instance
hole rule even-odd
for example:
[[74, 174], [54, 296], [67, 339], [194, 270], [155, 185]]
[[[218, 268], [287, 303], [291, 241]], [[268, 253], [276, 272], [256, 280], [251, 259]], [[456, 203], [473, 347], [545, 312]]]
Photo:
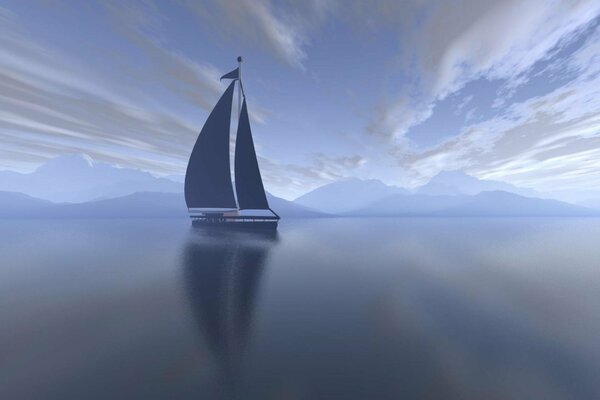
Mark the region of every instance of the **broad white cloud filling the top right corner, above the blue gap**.
[[[408, 2], [403, 21], [417, 21], [401, 32], [402, 82], [395, 99], [376, 109], [367, 128], [398, 138], [432, 115], [436, 101], [475, 79], [526, 82], [539, 60], [577, 35], [600, 13], [589, 1]], [[410, 28], [412, 26], [412, 28]]]

